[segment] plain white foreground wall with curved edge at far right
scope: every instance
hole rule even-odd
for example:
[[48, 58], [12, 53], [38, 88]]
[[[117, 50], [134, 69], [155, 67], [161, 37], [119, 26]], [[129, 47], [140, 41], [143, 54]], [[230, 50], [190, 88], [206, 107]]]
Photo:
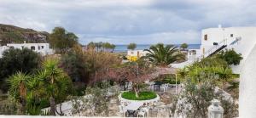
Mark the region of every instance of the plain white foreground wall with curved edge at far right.
[[239, 117], [256, 116], [256, 45], [241, 68], [239, 87]]

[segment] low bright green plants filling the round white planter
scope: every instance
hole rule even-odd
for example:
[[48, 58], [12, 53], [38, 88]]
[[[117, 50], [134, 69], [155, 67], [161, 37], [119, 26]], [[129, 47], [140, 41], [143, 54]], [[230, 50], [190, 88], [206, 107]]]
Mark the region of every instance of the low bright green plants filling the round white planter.
[[136, 97], [134, 92], [122, 93], [122, 98], [130, 99], [130, 100], [148, 100], [156, 97], [157, 95], [154, 92], [140, 92], [138, 98]]

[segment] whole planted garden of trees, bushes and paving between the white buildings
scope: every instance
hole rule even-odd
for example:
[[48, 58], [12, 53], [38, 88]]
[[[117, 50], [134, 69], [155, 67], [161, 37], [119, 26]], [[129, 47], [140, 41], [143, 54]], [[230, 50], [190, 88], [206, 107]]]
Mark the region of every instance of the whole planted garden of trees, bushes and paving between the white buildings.
[[[177, 73], [161, 74], [158, 69], [169, 68], [168, 65], [185, 58], [174, 45], [153, 45], [145, 50], [145, 57], [122, 63], [122, 58], [113, 53], [113, 44], [90, 42], [84, 49], [78, 37], [71, 34], [74, 35], [61, 27], [53, 30], [49, 42], [55, 55], [42, 57], [26, 48], [3, 53], [0, 114], [116, 116], [120, 112], [119, 116], [129, 108], [133, 116], [154, 110], [150, 113], [172, 111], [168, 114], [206, 117], [213, 98], [220, 100], [224, 117], [238, 114], [239, 75], [230, 66], [239, 65], [242, 58], [234, 50], [224, 50]], [[183, 85], [178, 87], [178, 93], [174, 89], [177, 85]], [[218, 93], [214, 93], [216, 88]], [[230, 94], [232, 100], [224, 99], [224, 93]], [[152, 99], [156, 100], [137, 103], [133, 110], [131, 101]], [[192, 108], [185, 108], [188, 104]], [[70, 110], [68, 114], [63, 110], [66, 108]]]

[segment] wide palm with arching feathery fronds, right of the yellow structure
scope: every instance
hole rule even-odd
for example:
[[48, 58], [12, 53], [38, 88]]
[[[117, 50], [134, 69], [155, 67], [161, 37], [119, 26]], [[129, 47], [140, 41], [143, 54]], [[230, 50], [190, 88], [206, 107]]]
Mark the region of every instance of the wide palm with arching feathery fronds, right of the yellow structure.
[[179, 53], [174, 45], [164, 46], [164, 44], [159, 43], [145, 49], [145, 51], [148, 52], [146, 57], [156, 65], [170, 65], [177, 60], [185, 59], [185, 55]]

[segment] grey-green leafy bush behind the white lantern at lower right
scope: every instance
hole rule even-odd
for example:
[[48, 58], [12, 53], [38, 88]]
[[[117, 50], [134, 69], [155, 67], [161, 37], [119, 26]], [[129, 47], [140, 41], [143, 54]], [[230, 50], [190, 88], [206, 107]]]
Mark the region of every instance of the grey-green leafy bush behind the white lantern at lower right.
[[216, 98], [220, 101], [224, 108], [224, 118], [234, 118], [238, 116], [238, 105], [235, 100], [226, 98], [221, 90], [216, 91], [214, 82], [205, 81], [201, 85], [187, 81], [178, 97], [183, 102], [178, 102], [173, 111], [177, 111], [179, 115], [187, 117], [206, 118], [207, 108], [211, 104], [212, 99]]

